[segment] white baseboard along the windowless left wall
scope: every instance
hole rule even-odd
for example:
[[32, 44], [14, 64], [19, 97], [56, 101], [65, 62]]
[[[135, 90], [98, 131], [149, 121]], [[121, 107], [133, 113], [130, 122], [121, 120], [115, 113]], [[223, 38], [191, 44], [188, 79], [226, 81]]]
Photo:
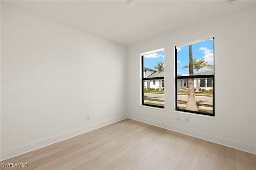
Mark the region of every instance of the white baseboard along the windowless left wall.
[[99, 122], [99, 123], [96, 123], [93, 125], [89, 125], [89, 126], [86, 126], [86, 127], [80, 128], [80, 129], [72, 130], [70, 132], [52, 136], [51, 138], [46, 138], [46, 139], [43, 139], [43, 140], [40, 140], [37, 142], [26, 144], [24, 146], [20, 146], [17, 148], [3, 151], [3, 152], [1, 152], [1, 161], [12, 158], [14, 156], [18, 156], [18, 155], [30, 152], [30, 151], [33, 151], [33, 150], [36, 150], [36, 149], [39, 149], [39, 148], [42, 148], [42, 147], [45, 147], [45, 146], [48, 146], [48, 145], [51, 145], [51, 144], [54, 144], [54, 143], [57, 143], [57, 142], [60, 142], [62, 140], [66, 140], [68, 138], [72, 138], [74, 136], [89, 132], [91, 130], [94, 130], [94, 129], [97, 129], [100, 127], [104, 127], [106, 125], [110, 125], [112, 123], [124, 120], [126, 118], [127, 118], [127, 115], [123, 115], [120, 117], [116, 117], [114, 119], [109, 119], [109, 120], [102, 121], [102, 122]]

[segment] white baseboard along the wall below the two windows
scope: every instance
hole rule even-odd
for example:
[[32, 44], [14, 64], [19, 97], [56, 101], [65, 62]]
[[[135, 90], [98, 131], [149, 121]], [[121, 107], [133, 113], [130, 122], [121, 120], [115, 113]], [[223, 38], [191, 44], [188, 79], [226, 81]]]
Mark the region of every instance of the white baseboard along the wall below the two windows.
[[245, 151], [245, 152], [256, 154], [256, 147], [248, 145], [248, 144], [236, 142], [236, 141], [229, 140], [229, 139], [226, 139], [226, 138], [221, 138], [221, 137], [218, 137], [218, 136], [213, 136], [213, 135], [210, 135], [210, 134], [205, 134], [205, 133], [194, 131], [194, 130], [187, 129], [187, 128], [176, 127], [176, 126], [173, 126], [173, 125], [169, 125], [169, 124], [166, 124], [166, 123], [162, 123], [162, 122], [158, 122], [158, 121], [154, 121], [154, 120], [150, 120], [150, 119], [145, 119], [145, 118], [142, 118], [142, 117], [137, 117], [137, 116], [134, 116], [134, 115], [128, 115], [128, 118], [133, 119], [135, 121], [140, 121], [140, 122], [143, 122], [143, 123], [154, 125], [156, 127], [165, 128], [165, 129], [168, 129], [168, 130], [172, 130], [172, 131], [175, 131], [175, 132], [179, 132], [179, 133], [182, 133], [182, 134], [186, 134], [186, 135], [189, 135], [189, 136], [193, 136], [193, 137], [196, 137], [196, 138], [200, 138], [200, 139], [203, 139], [203, 140], [207, 140], [207, 141], [210, 141], [210, 142], [214, 142], [214, 143], [217, 143], [217, 144], [221, 144], [221, 145], [224, 145], [224, 146], [228, 146], [228, 147], [231, 147], [231, 148], [235, 148], [235, 149], [238, 149], [238, 150], [242, 150], [242, 151]]

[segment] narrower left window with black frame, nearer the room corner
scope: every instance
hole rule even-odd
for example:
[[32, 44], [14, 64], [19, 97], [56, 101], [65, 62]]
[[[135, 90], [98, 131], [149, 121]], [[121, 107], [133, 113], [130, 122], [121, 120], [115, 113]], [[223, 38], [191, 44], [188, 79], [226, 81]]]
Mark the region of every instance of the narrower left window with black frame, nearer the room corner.
[[141, 64], [142, 105], [164, 108], [163, 49], [142, 55]]

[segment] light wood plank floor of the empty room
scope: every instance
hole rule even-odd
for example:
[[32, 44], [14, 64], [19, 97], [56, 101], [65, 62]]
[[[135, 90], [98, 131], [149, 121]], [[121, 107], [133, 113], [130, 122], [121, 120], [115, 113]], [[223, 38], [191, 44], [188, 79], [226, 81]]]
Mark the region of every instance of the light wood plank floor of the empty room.
[[23, 170], [256, 170], [255, 162], [254, 154], [125, 119], [1, 163], [27, 163]]

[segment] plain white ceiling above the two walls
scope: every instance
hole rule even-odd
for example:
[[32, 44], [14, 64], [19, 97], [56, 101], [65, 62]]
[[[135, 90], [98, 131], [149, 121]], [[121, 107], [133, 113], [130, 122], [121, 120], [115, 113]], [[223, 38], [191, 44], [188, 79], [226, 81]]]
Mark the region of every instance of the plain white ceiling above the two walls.
[[255, 6], [255, 0], [33, 0], [1, 3], [43, 16], [112, 42], [130, 46]]

